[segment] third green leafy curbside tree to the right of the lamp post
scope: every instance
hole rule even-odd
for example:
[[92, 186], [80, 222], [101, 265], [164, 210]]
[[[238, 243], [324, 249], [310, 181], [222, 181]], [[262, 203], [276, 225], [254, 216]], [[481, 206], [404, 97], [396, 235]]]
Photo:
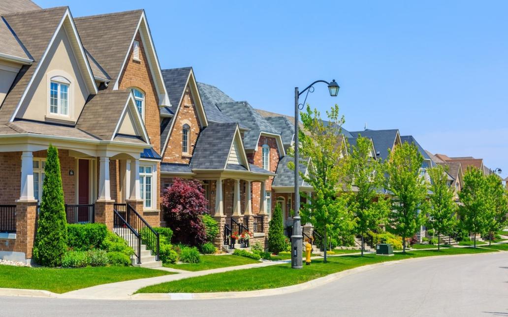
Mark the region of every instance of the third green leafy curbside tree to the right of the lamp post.
[[427, 183], [420, 174], [423, 156], [415, 144], [404, 142], [389, 151], [386, 164], [387, 185], [391, 195], [387, 230], [402, 237], [402, 250], [406, 251], [405, 239], [416, 234], [427, 212]]

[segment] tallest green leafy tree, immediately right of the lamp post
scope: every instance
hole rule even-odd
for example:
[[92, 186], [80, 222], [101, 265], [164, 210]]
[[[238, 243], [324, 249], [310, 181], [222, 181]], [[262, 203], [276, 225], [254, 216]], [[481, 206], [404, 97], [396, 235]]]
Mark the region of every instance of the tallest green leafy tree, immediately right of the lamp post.
[[[341, 195], [345, 180], [344, 138], [340, 133], [344, 117], [339, 117], [337, 105], [326, 114], [328, 123], [321, 120], [317, 110], [311, 111], [307, 105], [306, 111], [301, 113], [304, 129], [299, 133], [301, 156], [310, 158], [311, 162], [308, 173], [300, 172], [300, 175], [314, 189], [312, 200], [304, 194], [307, 202], [301, 204], [301, 216], [304, 223], [310, 222], [322, 233], [325, 246], [329, 236], [346, 235], [353, 229], [352, 213], [346, 207], [346, 196]], [[324, 261], [327, 261], [327, 248]]]

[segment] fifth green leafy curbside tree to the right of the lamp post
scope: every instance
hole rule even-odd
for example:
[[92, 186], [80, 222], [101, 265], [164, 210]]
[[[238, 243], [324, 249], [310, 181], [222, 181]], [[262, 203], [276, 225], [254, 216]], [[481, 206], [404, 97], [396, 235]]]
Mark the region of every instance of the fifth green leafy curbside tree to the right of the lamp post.
[[481, 170], [468, 167], [464, 173], [464, 187], [459, 193], [462, 206], [459, 208], [461, 225], [474, 235], [476, 248], [477, 233], [487, 233], [493, 202], [489, 199], [488, 182]]

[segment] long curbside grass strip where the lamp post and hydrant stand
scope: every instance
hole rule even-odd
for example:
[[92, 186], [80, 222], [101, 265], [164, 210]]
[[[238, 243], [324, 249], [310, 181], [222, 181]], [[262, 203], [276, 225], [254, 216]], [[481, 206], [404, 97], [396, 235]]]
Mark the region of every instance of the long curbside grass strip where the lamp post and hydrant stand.
[[301, 270], [292, 269], [289, 263], [279, 264], [175, 280], [145, 287], [136, 293], [208, 293], [272, 289], [304, 283], [314, 278], [367, 264], [437, 255], [486, 252], [497, 251], [480, 248], [446, 248], [441, 251], [428, 250], [407, 252], [405, 254], [397, 253], [393, 257], [368, 254], [362, 258], [359, 255], [346, 255], [330, 257], [328, 263], [324, 263], [323, 260], [312, 260], [311, 265], [304, 265]]

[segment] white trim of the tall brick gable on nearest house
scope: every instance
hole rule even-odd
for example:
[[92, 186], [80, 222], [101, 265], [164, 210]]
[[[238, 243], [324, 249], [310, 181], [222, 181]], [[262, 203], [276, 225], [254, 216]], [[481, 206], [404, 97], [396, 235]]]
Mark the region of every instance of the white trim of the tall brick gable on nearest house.
[[[141, 26], [144, 26], [146, 30], [142, 30], [140, 32]], [[162, 77], [161, 66], [158, 62], [157, 52], [155, 51], [155, 45], [153, 44], [152, 36], [150, 33], [150, 28], [148, 27], [148, 23], [146, 22], [145, 11], [143, 10], [141, 17], [139, 18], [138, 26], [134, 31], [131, 44], [129, 45], [129, 49], [125, 54], [125, 58], [123, 59], [122, 66], [120, 67], [120, 72], [118, 73], [118, 78], [116, 79], [115, 85], [113, 86], [113, 90], [118, 90], [118, 84], [120, 81], [120, 75], [127, 63], [127, 59], [129, 58], [129, 53], [131, 52], [131, 48], [134, 45], [134, 41], [136, 38], [136, 34], [140, 33], [141, 41], [143, 43], [143, 47], [145, 49], [145, 54], [147, 56], [148, 66], [150, 68], [150, 74], [155, 82], [155, 90], [157, 92], [157, 96], [159, 99], [159, 105], [171, 107], [171, 102], [169, 101], [168, 92], [166, 91], [166, 85], [164, 83], [164, 78]], [[144, 34], [146, 33], [146, 34]], [[152, 55], [153, 57], [152, 57]], [[155, 66], [155, 67], [154, 67]], [[155, 68], [155, 69], [154, 69]]]

